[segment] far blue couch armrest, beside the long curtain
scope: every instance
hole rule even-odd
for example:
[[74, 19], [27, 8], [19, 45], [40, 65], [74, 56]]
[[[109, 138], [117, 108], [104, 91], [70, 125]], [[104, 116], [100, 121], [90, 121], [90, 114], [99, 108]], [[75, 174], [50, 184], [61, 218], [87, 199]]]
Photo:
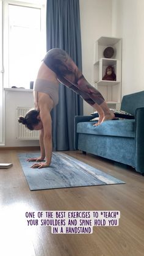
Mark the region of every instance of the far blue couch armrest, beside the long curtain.
[[74, 118], [74, 149], [77, 150], [78, 135], [76, 132], [77, 123], [88, 122], [93, 119], [92, 115], [76, 115]]

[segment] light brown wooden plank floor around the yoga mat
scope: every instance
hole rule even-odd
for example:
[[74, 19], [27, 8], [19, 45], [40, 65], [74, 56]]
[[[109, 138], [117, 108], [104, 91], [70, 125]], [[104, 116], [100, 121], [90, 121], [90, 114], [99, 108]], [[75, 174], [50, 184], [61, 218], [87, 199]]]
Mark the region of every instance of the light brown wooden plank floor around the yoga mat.
[[[0, 163], [13, 167], [0, 170], [1, 256], [143, 256], [144, 177], [132, 167], [81, 152], [65, 152], [124, 185], [30, 191], [17, 153], [0, 150]], [[87, 235], [52, 234], [50, 227], [27, 227], [27, 211], [118, 210], [118, 227], [93, 227]]]

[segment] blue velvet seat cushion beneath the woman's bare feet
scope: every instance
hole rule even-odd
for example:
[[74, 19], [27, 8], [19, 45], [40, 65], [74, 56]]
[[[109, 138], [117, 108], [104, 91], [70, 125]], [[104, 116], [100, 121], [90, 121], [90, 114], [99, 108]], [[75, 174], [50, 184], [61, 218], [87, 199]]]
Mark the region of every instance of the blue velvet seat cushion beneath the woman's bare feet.
[[77, 133], [118, 137], [135, 136], [135, 120], [109, 120], [98, 126], [93, 126], [94, 123], [96, 122], [77, 123]]

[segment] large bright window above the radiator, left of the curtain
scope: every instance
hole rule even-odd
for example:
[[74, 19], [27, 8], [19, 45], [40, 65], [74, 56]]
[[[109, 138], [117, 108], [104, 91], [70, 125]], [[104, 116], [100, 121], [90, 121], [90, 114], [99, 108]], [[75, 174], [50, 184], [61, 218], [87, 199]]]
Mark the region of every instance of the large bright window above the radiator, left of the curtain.
[[44, 16], [43, 5], [7, 1], [4, 87], [29, 89], [30, 81], [35, 80], [46, 53]]

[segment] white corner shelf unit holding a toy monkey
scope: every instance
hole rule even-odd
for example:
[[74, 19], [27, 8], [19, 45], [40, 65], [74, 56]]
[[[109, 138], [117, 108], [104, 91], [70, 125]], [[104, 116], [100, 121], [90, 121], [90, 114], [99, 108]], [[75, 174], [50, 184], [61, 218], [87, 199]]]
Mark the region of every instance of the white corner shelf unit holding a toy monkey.
[[[112, 59], [103, 56], [104, 49], [112, 46]], [[116, 81], [103, 80], [106, 68], [112, 66], [115, 70]], [[101, 92], [110, 108], [120, 108], [121, 103], [121, 38], [100, 37], [94, 46], [93, 81], [96, 89]]]

